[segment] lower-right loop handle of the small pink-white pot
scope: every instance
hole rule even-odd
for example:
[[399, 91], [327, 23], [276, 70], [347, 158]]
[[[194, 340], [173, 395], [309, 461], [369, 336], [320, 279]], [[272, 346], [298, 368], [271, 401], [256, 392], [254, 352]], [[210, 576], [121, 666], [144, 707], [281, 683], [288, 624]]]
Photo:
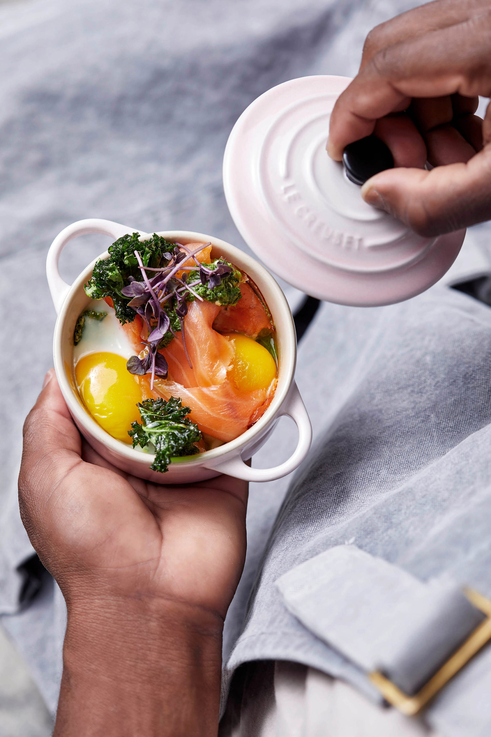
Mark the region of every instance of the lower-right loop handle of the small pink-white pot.
[[244, 464], [239, 451], [233, 458], [207, 464], [207, 468], [244, 479], [244, 481], [275, 481], [294, 471], [304, 460], [312, 441], [311, 422], [295, 382], [292, 383], [285, 405], [278, 413], [278, 417], [283, 415], [291, 417], [298, 429], [297, 447], [288, 461], [274, 468], [250, 468]]

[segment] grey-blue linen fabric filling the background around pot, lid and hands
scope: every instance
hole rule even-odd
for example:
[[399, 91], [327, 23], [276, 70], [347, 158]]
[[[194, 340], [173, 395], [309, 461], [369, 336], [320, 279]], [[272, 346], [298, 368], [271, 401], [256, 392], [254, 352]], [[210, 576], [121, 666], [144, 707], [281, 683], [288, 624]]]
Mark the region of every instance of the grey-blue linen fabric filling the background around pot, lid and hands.
[[[239, 114], [289, 78], [355, 74], [370, 28], [417, 4], [38, 0], [0, 7], [1, 341], [9, 357], [1, 385], [0, 613], [52, 711], [66, 613], [49, 576], [33, 579], [24, 565], [33, 551], [15, 490], [21, 425], [52, 365], [54, 310], [44, 276], [50, 242], [74, 220], [104, 217], [144, 231], [194, 229], [247, 250], [222, 192], [222, 154]], [[491, 271], [489, 233], [488, 226], [473, 229], [449, 279]], [[72, 243], [63, 275], [73, 279], [105, 248], [102, 237]], [[283, 286], [295, 307], [302, 295]], [[15, 312], [14, 289], [22, 295]], [[470, 514], [476, 504], [473, 489], [486, 506], [488, 326], [487, 307], [446, 287], [399, 307], [319, 310], [300, 346], [297, 381], [315, 436], [325, 428], [328, 436], [280, 512], [236, 645], [289, 479], [251, 485], [247, 562], [225, 623], [225, 659], [235, 646], [229, 675], [242, 661], [283, 654], [334, 675], [351, 673], [367, 691], [356, 668], [331, 651], [324, 657], [326, 647], [319, 654], [318, 640], [275, 588], [282, 573], [340, 541], [354, 537], [421, 579], [439, 573], [440, 562], [471, 582], [468, 555], [482, 573], [486, 519], [464, 520], [462, 510]], [[254, 464], [280, 462], [293, 444], [292, 428], [281, 421]], [[456, 531], [446, 539], [449, 498]], [[476, 576], [485, 593], [486, 576]]]

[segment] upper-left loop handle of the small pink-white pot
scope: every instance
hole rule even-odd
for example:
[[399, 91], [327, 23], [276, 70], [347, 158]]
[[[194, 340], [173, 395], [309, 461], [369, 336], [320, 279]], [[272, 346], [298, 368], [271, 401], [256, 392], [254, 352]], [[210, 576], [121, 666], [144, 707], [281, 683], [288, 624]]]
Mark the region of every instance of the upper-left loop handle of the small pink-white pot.
[[[49, 248], [46, 259], [46, 276], [48, 277], [49, 291], [57, 314], [60, 312], [63, 301], [65, 301], [70, 290], [70, 286], [63, 281], [58, 270], [60, 254], [66, 244], [74, 238], [88, 233], [110, 235], [113, 240], [118, 240], [121, 236], [134, 232], [135, 228], [121, 226], [119, 223], [111, 222], [111, 220], [99, 220], [94, 217], [88, 220], [77, 220], [77, 223], [72, 223], [71, 226], [68, 226], [57, 235]], [[141, 233], [141, 235], [144, 235], [144, 233]]]

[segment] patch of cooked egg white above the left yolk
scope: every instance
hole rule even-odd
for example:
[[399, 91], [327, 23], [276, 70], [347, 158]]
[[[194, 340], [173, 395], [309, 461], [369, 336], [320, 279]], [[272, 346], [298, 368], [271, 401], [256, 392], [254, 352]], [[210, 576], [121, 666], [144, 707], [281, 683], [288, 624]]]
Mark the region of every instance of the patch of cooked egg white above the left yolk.
[[113, 307], [109, 307], [103, 299], [91, 299], [85, 310], [107, 312], [107, 316], [101, 321], [85, 318], [82, 340], [74, 346], [74, 366], [89, 353], [116, 353], [126, 359], [135, 354]]

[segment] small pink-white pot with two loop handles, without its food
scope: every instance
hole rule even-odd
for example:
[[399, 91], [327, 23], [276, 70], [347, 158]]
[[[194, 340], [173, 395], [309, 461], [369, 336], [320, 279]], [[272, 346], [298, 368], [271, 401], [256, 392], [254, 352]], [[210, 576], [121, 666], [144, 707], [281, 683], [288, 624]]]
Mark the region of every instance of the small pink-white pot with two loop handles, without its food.
[[[210, 242], [213, 258], [224, 256], [225, 259], [230, 259], [230, 262], [246, 273], [257, 285], [271, 312], [278, 343], [278, 385], [271, 404], [260, 419], [236, 439], [207, 450], [205, 453], [175, 458], [169, 464], [169, 470], [166, 473], [150, 469], [154, 460], [153, 455], [133, 450], [130, 445], [113, 438], [88, 413], [80, 399], [74, 380], [74, 328], [79, 315], [86, 309], [89, 302], [83, 285], [90, 279], [95, 261], [80, 274], [70, 287], [60, 277], [58, 259], [66, 244], [77, 236], [102, 233], [116, 240], [133, 232], [135, 232], [134, 228], [111, 223], [108, 220], [80, 220], [65, 228], [54, 239], [49, 250], [46, 271], [54, 307], [58, 313], [54, 329], [54, 368], [63, 397], [66, 399], [80, 433], [111, 464], [156, 483], [203, 481], [219, 473], [227, 473], [247, 481], [271, 481], [288, 474], [303, 461], [311, 444], [311, 425], [308, 414], [297, 385], [294, 383], [297, 341], [292, 312], [280, 287], [264, 267], [243, 251], [234, 248], [233, 245], [202, 233], [162, 231], [158, 235], [168, 241], [177, 241], [183, 245], [191, 242]], [[147, 234], [140, 233], [140, 237], [144, 239]], [[100, 258], [107, 258], [107, 252]], [[298, 428], [299, 438], [294, 453], [287, 461], [275, 468], [250, 468], [244, 461], [251, 458], [266, 442], [282, 415], [292, 417]]]

